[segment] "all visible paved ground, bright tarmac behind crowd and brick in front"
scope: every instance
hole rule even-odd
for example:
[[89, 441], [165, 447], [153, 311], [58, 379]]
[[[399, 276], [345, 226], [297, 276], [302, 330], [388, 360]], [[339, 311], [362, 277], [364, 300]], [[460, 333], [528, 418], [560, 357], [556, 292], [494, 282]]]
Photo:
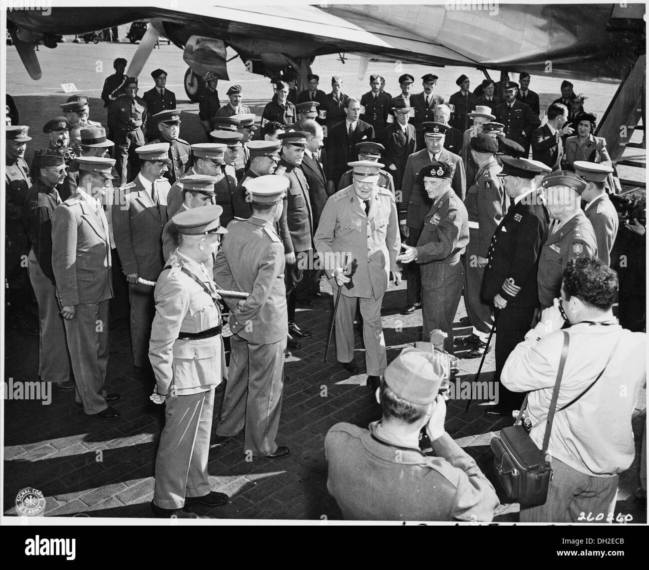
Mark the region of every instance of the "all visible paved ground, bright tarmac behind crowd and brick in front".
[[[99, 99], [104, 78], [112, 73], [112, 60], [123, 56], [130, 61], [136, 46], [129, 43], [74, 44], [62, 43], [55, 50], [40, 47], [38, 56], [43, 67], [43, 78], [34, 82], [29, 78], [13, 47], [6, 57], [6, 84], [14, 95], [20, 114], [20, 123], [31, 126], [34, 138], [28, 146], [28, 160], [33, 150], [45, 146], [42, 125], [60, 115], [58, 105], [68, 94], [60, 84], [74, 82], [80, 92], [90, 96], [90, 118], [105, 123], [103, 102]], [[228, 53], [228, 56], [231, 54]], [[392, 64], [371, 62], [365, 79], [358, 78], [358, 58], [349, 56], [345, 64], [336, 56], [316, 58], [314, 73], [321, 76], [320, 88], [327, 92], [330, 76], [341, 75], [343, 91], [361, 95], [369, 87], [369, 73], [378, 71], [386, 77], [386, 89], [396, 95], [397, 77], [412, 73], [419, 88], [419, 77], [431, 71], [439, 75], [437, 92], [445, 96], [457, 90], [454, 80], [467, 73], [473, 84], [482, 77], [475, 69], [435, 69], [408, 66], [397, 70]], [[174, 45], [154, 49], [140, 75], [140, 95], [153, 86], [150, 71], [164, 68], [169, 77], [167, 88], [175, 91], [178, 108], [182, 110], [181, 136], [189, 142], [204, 142], [204, 133], [198, 121], [198, 105], [188, 101], [182, 88], [186, 66], [182, 53]], [[231, 81], [219, 82], [221, 101], [230, 84], [244, 87], [243, 103], [259, 117], [263, 105], [272, 97], [269, 80], [245, 73], [241, 60], [228, 66]], [[495, 77], [498, 79], [498, 77]], [[548, 77], [532, 77], [532, 90], [539, 93], [541, 107], [559, 94], [560, 81]], [[587, 109], [600, 114], [617, 86], [575, 82], [575, 91], [589, 93]], [[328, 286], [323, 284], [323, 290]], [[391, 285], [382, 308], [388, 361], [397, 356], [402, 347], [421, 339], [421, 310], [410, 316], [401, 316], [405, 304], [405, 284]], [[365, 388], [365, 374], [349, 377], [336, 363], [332, 347], [328, 362], [323, 363], [324, 346], [332, 316], [332, 297], [315, 301], [313, 307], [299, 306], [297, 323], [311, 330], [312, 338], [304, 339], [302, 348], [293, 351], [286, 362], [282, 417], [278, 443], [288, 445], [291, 455], [281, 460], [245, 460], [243, 434], [225, 445], [210, 448], [209, 473], [212, 488], [230, 495], [225, 506], [210, 509], [196, 506], [195, 511], [214, 519], [340, 519], [334, 499], [326, 491], [326, 459], [324, 435], [339, 421], [366, 427], [380, 418], [380, 408], [373, 393]], [[465, 316], [460, 303], [454, 334], [469, 334], [471, 329], [459, 323]], [[3, 379], [9, 382], [38, 380], [38, 337], [27, 336], [16, 328], [6, 328], [4, 335]], [[364, 370], [361, 334], [356, 334], [356, 362]], [[466, 351], [456, 353], [462, 356]], [[472, 380], [480, 359], [459, 360], [459, 380]], [[487, 354], [480, 380], [493, 377], [493, 351]], [[86, 514], [90, 517], [151, 517], [149, 502], [153, 497], [154, 458], [164, 417], [164, 408], [149, 401], [152, 386], [143, 384], [132, 373], [129, 328], [124, 321], [110, 323], [110, 357], [108, 378], [110, 392], [122, 397], [114, 407], [121, 412], [117, 421], [104, 422], [84, 415], [75, 406], [72, 393], [54, 393], [51, 404], [38, 400], [4, 401], [4, 478], [3, 513], [16, 515], [14, 501], [20, 489], [27, 486], [40, 489], [45, 495], [46, 517]], [[214, 430], [219, 418], [223, 391], [217, 393]], [[447, 413], [447, 431], [469, 452], [486, 473], [491, 471], [489, 440], [512, 419], [493, 421], [482, 413], [482, 405], [473, 403], [464, 412], [465, 401], [450, 401]], [[485, 404], [483, 401], [482, 404]], [[636, 438], [636, 459], [628, 471], [620, 476], [616, 514], [631, 514], [631, 522], [646, 522], [644, 506], [635, 501], [638, 483], [640, 434], [646, 416], [646, 393], [634, 413], [633, 429]], [[502, 506], [496, 521], [514, 522], [518, 506]]]

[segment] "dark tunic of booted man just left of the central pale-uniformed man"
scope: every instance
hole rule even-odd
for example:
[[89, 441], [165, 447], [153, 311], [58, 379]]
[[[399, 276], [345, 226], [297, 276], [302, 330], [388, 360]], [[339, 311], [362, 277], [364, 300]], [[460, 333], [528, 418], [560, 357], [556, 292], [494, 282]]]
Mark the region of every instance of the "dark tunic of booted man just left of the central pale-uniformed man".
[[284, 253], [313, 249], [313, 210], [304, 173], [282, 158], [275, 174], [283, 174], [289, 180], [279, 222]]

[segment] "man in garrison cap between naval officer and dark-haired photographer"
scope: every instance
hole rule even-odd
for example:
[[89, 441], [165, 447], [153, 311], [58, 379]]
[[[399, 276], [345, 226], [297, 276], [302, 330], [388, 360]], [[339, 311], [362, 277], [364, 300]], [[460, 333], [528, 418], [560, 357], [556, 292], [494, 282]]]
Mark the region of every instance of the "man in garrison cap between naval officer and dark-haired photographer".
[[543, 188], [554, 221], [539, 259], [537, 283], [541, 310], [551, 307], [554, 299], [561, 296], [563, 269], [571, 259], [598, 254], [593, 225], [581, 208], [586, 182], [574, 172], [557, 170], [546, 175]]

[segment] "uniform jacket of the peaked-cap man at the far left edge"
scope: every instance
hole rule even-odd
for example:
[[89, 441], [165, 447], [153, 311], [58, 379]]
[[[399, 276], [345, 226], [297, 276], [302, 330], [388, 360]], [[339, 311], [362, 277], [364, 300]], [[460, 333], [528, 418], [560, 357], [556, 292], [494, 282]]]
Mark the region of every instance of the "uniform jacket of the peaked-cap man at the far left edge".
[[[5, 170], [5, 249], [17, 255], [27, 250], [27, 234], [23, 226], [23, 206], [32, 186], [29, 168], [24, 158], [7, 164]], [[27, 251], [29, 253], [29, 251]]]

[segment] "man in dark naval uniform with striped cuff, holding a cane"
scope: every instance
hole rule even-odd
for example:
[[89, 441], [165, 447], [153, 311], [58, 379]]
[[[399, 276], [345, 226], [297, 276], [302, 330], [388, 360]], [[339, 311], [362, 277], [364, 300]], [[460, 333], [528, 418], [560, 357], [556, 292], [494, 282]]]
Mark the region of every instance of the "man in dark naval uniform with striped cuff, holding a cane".
[[[482, 298], [493, 304], [496, 314], [495, 382], [500, 382], [509, 353], [530, 330], [539, 306], [536, 276], [550, 223], [543, 190], [535, 180], [539, 173], [541, 167], [511, 156], [503, 156], [498, 173], [511, 205], [491, 238], [482, 282]], [[498, 397], [498, 404], [485, 407], [485, 414], [511, 417], [523, 401], [522, 394], [502, 383]]]

